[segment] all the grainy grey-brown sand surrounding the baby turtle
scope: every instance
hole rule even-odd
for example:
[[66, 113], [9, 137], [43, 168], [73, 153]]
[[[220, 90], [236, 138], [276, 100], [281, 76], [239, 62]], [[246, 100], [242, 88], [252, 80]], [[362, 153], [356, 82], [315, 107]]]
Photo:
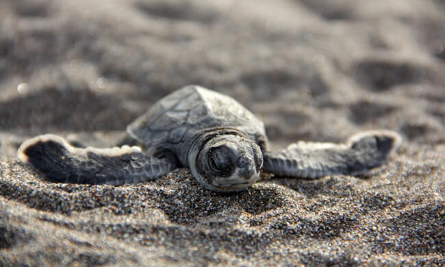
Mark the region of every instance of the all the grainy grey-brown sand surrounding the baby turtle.
[[[0, 1], [0, 266], [445, 264], [444, 14], [441, 0]], [[238, 99], [275, 148], [381, 128], [404, 142], [364, 178], [238, 194], [186, 169], [78, 186], [16, 162], [41, 133], [114, 146], [186, 84]]]

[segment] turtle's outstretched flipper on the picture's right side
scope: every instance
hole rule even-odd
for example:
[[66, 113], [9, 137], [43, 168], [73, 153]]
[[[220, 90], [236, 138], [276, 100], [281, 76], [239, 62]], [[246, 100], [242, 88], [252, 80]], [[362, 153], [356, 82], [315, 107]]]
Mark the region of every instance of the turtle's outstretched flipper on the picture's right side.
[[363, 175], [383, 164], [400, 144], [401, 137], [394, 131], [357, 133], [345, 144], [301, 141], [264, 153], [263, 169], [283, 177]]

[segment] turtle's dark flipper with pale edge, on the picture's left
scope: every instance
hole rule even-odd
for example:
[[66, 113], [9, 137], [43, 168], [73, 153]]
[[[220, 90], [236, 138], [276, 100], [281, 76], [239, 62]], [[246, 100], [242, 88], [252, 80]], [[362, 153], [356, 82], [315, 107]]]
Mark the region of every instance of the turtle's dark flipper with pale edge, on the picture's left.
[[138, 183], [155, 179], [178, 167], [174, 160], [144, 155], [138, 147], [79, 149], [60, 136], [50, 134], [23, 142], [17, 156], [47, 179], [59, 183]]

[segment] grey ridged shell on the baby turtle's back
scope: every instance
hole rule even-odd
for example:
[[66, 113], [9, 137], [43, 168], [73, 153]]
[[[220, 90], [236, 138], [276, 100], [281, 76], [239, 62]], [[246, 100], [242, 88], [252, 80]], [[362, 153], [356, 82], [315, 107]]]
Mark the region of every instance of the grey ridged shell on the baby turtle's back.
[[164, 97], [127, 131], [147, 147], [175, 147], [212, 128], [235, 128], [251, 140], [266, 142], [264, 123], [246, 107], [201, 86], [186, 86]]

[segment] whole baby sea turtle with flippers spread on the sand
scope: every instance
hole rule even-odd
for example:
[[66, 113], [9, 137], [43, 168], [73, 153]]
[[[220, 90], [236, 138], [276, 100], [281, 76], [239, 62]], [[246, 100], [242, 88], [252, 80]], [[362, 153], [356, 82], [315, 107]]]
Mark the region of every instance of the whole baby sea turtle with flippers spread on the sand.
[[149, 181], [181, 166], [204, 188], [240, 191], [263, 169], [281, 177], [362, 175], [381, 165], [401, 138], [393, 131], [358, 133], [345, 144], [296, 142], [268, 149], [264, 124], [235, 99], [200, 86], [164, 97], [127, 127], [147, 147], [86, 149], [59, 136], [23, 142], [18, 157], [62, 183], [122, 185]]

